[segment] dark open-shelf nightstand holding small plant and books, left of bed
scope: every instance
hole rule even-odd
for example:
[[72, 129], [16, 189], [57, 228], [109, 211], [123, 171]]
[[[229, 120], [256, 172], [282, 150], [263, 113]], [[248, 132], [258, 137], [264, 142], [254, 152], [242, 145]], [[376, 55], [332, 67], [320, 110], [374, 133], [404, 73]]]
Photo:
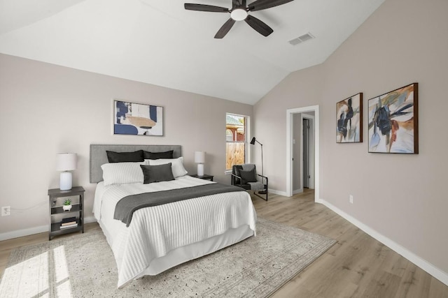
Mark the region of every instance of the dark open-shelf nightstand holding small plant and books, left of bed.
[[[50, 210], [50, 230], [48, 231], [48, 240], [52, 237], [71, 232], [84, 232], [84, 188], [82, 186], [75, 186], [69, 191], [61, 191], [59, 188], [52, 188], [48, 190], [49, 210]], [[78, 204], [72, 204], [70, 211], [64, 211], [62, 205], [57, 204], [57, 198], [79, 196]], [[70, 228], [62, 228], [62, 221], [64, 218], [76, 217], [76, 226]], [[53, 218], [62, 218], [62, 221]]]

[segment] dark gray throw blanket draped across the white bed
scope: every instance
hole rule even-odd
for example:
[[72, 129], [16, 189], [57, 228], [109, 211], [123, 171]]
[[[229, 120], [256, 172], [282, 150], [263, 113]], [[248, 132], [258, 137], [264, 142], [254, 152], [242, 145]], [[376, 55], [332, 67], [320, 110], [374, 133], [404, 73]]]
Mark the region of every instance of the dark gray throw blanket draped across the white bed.
[[139, 193], [137, 195], [127, 195], [118, 201], [113, 214], [114, 219], [123, 221], [129, 227], [132, 215], [138, 209], [144, 207], [158, 206], [182, 200], [200, 198], [206, 195], [216, 195], [217, 193], [231, 193], [233, 191], [245, 191], [239, 186], [232, 186], [221, 183], [205, 184], [187, 188], [172, 189], [169, 191], [155, 191], [153, 193]]

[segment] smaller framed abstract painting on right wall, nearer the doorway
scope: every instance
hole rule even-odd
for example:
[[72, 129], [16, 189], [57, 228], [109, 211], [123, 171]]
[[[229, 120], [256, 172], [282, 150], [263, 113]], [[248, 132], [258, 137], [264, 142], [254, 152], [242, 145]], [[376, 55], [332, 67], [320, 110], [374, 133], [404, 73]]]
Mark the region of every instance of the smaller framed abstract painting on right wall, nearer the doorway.
[[363, 142], [363, 94], [336, 103], [336, 142]]

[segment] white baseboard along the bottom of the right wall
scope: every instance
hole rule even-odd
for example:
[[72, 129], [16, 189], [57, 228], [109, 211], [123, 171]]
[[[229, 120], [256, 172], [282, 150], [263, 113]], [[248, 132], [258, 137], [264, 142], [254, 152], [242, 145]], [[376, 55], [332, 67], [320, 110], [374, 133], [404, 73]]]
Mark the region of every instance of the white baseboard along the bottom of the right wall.
[[408, 251], [406, 248], [400, 246], [400, 244], [397, 244], [395, 241], [389, 239], [388, 237], [385, 237], [383, 234], [377, 232], [376, 230], [373, 230], [369, 226], [365, 225], [364, 223], [361, 223], [356, 218], [353, 218], [353, 216], [350, 216], [349, 214], [346, 214], [341, 209], [335, 207], [334, 205], [330, 204], [329, 202], [319, 199], [316, 200], [316, 203], [320, 203], [331, 209], [332, 211], [335, 211], [337, 214], [345, 218], [350, 223], [353, 223], [353, 225], [356, 225], [356, 227], [360, 228], [360, 230], [363, 230], [365, 233], [372, 236], [374, 239], [377, 239], [382, 244], [388, 246], [388, 248], [391, 248], [395, 253], [398, 253], [399, 255], [402, 255], [402, 257], [406, 258], [410, 262], [414, 263], [416, 266], [420, 267], [424, 271], [428, 272], [431, 276], [434, 276], [439, 281], [444, 283], [445, 285], [448, 285], [448, 274], [447, 272], [442, 271], [441, 269], [435, 267], [430, 262], [423, 260], [418, 255], [412, 253], [411, 251]]

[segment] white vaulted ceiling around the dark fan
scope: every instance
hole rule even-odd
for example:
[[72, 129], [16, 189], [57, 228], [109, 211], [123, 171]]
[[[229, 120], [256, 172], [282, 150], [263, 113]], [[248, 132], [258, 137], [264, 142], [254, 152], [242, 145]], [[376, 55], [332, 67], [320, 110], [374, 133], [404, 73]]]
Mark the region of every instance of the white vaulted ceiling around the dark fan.
[[[254, 104], [289, 73], [321, 64], [384, 0], [295, 0], [250, 13], [215, 39], [232, 0], [0, 0], [0, 52]], [[248, 0], [248, 3], [253, 1]], [[299, 45], [288, 40], [311, 33]]]

